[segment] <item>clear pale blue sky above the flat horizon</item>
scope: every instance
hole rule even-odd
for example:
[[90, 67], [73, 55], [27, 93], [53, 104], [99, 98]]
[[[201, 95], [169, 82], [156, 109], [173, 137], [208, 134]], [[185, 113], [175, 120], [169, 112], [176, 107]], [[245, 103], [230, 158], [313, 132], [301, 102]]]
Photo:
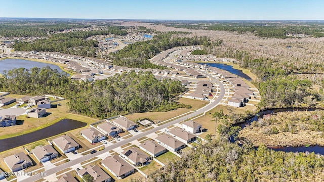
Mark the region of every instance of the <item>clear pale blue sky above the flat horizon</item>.
[[323, 0], [0, 0], [0, 17], [324, 20]]

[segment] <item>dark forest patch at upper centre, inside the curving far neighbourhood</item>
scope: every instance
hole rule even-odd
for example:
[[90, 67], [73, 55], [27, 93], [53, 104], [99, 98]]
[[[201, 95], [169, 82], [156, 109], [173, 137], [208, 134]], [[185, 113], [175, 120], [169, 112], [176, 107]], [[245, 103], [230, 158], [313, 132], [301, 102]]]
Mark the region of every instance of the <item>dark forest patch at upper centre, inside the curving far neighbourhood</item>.
[[188, 32], [167, 32], [159, 33], [154, 39], [136, 42], [128, 45], [116, 53], [110, 53], [114, 65], [135, 67], [135, 68], [157, 68], [148, 61], [161, 51], [165, 51], [174, 47], [188, 45], [205, 45], [210, 47], [212, 42], [207, 37], [180, 37], [181, 34]]

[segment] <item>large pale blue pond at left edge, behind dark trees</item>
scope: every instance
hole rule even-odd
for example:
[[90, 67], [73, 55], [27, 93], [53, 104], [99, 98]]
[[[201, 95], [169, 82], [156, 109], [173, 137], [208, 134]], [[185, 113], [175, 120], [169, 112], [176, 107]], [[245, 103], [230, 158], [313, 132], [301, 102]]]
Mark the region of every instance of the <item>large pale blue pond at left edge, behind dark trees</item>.
[[0, 73], [3, 74], [4, 70], [8, 71], [14, 68], [30, 69], [33, 67], [43, 68], [46, 66], [49, 66], [52, 69], [57, 69], [60, 73], [63, 72], [63, 70], [60, 67], [54, 64], [29, 61], [24, 59], [4, 59], [4, 60], [0, 60]]

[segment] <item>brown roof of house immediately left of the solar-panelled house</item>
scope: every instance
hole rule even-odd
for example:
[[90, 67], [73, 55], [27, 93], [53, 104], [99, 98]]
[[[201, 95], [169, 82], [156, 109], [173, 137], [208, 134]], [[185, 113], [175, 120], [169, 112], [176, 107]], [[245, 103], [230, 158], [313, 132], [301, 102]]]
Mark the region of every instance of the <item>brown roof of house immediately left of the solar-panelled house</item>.
[[134, 169], [134, 167], [131, 166], [131, 164], [121, 159], [117, 155], [106, 157], [104, 160], [101, 161], [101, 163], [107, 166], [107, 168], [109, 168], [117, 176], [123, 175], [128, 171]]

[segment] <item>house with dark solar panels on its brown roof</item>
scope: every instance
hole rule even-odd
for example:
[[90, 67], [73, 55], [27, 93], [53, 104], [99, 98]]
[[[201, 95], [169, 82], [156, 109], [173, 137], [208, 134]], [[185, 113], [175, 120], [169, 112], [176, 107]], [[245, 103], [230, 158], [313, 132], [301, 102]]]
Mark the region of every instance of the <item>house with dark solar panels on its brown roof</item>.
[[124, 152], [121, 152], [121, 157], [129, 160], [133, 165], [147, 165], [151, 160], [151, 157], [146, 155], [138, 148], [130, 148]]

